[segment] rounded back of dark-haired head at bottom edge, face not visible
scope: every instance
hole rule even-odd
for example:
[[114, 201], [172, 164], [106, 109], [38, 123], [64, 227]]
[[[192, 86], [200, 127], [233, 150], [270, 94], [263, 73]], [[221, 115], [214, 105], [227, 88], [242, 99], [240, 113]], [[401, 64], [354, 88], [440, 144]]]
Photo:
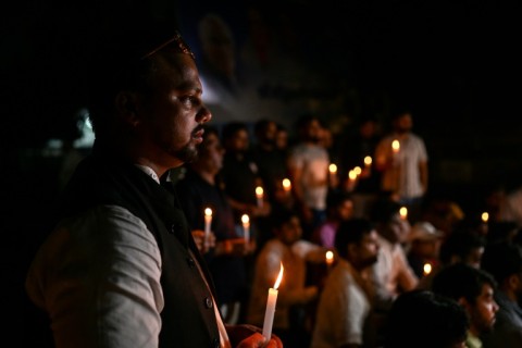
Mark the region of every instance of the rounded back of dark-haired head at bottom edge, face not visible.
[[384, 348], [449, 348], [464, 341], [470, 324], [463, 307], [427, 290], [401, 294], [391, 306]]

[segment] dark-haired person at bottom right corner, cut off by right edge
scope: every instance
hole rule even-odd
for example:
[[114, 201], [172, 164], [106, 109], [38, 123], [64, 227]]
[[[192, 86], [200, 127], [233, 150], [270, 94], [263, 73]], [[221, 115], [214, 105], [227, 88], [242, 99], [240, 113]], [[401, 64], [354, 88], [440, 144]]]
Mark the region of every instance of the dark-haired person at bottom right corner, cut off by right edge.
[[522, 248], [509, 241], [488, 245], [483, 269], [498, 283], [499, 306], [493, 332], [483, 337], [484, 347], [522, 347]]

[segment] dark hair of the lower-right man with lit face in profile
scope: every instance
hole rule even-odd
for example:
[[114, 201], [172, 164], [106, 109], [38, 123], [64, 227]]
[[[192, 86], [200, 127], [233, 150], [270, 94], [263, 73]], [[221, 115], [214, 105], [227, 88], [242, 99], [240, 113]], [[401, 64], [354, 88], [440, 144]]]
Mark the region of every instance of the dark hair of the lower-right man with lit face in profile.
[[490, 285], [493, 289], [497, 287], [497, 282], [486, 271], [459, 262], [448, 265], [437, 273], [433, 278], [432, 289], [436, 294], [455, 300], [463, 297], [468, 302], [474, 304], [486, 284]]

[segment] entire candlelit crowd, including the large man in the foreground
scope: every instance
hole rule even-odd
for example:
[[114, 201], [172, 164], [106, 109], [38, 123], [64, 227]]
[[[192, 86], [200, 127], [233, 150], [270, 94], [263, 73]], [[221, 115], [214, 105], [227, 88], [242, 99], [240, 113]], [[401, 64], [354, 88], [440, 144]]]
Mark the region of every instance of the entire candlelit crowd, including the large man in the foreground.
[[522, 226], [428, 195], [410, 110], [339, 138], [213, 124], [181, 36], [146, 34], [103, 51], [92, 153], [28, 271], [57, 347], [522, 346]]

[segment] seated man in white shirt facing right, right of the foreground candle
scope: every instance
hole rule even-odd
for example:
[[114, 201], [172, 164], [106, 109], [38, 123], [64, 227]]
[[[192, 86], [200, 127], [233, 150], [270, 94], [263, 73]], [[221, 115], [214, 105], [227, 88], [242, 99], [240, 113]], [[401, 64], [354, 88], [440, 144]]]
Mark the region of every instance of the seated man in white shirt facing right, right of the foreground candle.
[[373, 347], [373, 291], [365, 271], [377, 261], [377, 232], [365, 219], [344, 221], [335, 248], [339, 260], [321, 293], [310, 347]]

